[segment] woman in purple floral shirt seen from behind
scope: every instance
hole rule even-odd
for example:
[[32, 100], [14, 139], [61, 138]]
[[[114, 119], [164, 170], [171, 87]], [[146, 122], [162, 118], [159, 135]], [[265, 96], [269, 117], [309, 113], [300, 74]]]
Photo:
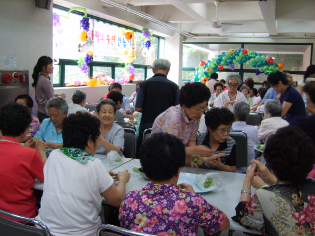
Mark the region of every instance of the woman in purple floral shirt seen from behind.
[[157, 236], [196, 236], [198, 227], [209, 234], [229, 227], [227, 216], [191, 185], [177, 185], [185, 165], [181, 140], [167, 133], [152, 135], [140, 149], [140, 162], [151, 182], [126, 194], [119, 212], [123, 228]]

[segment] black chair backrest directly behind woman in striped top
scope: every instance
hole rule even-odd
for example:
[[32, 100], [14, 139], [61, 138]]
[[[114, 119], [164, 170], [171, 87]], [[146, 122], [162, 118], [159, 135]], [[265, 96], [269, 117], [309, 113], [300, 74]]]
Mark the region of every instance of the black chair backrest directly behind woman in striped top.
[[236, 167], [247, 167], [247, 134], [244, 131], [232, 130], [229, 136], [236, 143]]

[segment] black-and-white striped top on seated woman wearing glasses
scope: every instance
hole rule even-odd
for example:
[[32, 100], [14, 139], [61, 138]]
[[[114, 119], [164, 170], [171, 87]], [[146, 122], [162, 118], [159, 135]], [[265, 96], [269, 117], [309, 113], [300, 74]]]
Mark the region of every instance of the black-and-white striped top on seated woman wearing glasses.
[[[205, 145], [209, 148], [209, 132], [197, 134], [197, 145]], [[221, 143], [215, 153], [225, 153], [224, 156], [220, 157], [220, 161], [227, 166], [236, 166], [236, 148], [235, 140], [231, 137], [227, 137], [224, 143]], [[209, 163], [203, 163], [201, 168], [217, 170], [216, 166], [212, 166]]]

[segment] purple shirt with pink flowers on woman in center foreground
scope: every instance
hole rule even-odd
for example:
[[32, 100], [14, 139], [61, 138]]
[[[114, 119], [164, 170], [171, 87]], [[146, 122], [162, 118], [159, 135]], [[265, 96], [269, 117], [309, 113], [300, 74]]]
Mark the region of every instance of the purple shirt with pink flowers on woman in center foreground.
[[158, 236], [196, 236], [198, 227], [217, 232], [225, 220], [220, 210], [199, 194], [174, 184], [148, 183], [125, 195], [120, 206], [121, 227]]

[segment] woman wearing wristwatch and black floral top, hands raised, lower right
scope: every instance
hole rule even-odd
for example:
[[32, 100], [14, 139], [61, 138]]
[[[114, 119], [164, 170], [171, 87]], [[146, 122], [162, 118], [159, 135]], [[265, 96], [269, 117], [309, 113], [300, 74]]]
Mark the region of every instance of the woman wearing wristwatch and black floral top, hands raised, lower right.
[[[264, 156], [270, 172], [253, 160], [235, 220], [269, 236], [315, 235], [315, 180], [306, 178], [315, 161], [313, 141], [299, 128], [287, 126], [268, 139]], [[257, 189], [252, 197], [251, 184]]]

